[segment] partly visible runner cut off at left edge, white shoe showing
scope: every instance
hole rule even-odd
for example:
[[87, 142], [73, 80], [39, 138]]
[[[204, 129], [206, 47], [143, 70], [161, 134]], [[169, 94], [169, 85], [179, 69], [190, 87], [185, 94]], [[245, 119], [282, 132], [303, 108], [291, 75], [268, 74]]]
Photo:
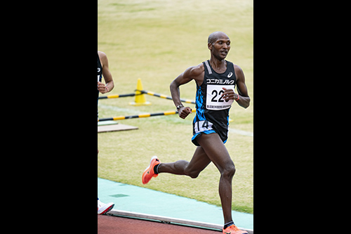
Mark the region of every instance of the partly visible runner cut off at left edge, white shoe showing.
[[[102, 84], [102, 76], [105, 79], [106, 84]], [[112, 91], [114, 88], [114, 83], [112, 79], [112, 74], [109, 70], [109, 62], [107, 60], [107, 56], [105, 53], [98, 51], [98, 98], [99, 93], [108, 93]], [[99, 99], [98, 99], [99, 103]], [[99, 110], [98, 110], [98, 121], [99, 121]], [[98, 150], [99, 154], [99, 150]], [[102, 203], [98, 197], [98, 214], [105, 214], [110, 212], [110, 210], [114, 207], [114, 203]]]

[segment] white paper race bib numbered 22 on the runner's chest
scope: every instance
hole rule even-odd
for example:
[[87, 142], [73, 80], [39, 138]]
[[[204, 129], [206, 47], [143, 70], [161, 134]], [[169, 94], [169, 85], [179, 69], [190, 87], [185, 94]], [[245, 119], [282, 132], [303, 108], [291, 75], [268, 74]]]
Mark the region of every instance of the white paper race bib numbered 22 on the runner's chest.
[[225, 89], [233, 89], [234, 85], [207, 85], [206, 109], [207, 110], [225, 110], [232, 106], [233, 100], [222, 99]]

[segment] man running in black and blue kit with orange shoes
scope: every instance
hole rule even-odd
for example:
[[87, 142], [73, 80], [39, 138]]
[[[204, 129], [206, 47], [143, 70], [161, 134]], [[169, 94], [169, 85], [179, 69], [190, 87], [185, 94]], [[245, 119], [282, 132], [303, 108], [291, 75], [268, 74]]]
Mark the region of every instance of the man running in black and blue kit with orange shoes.
[[[178, 115], [185, 119], [192, 112], [180, 101], [179, 86], [192, 79], [197, 84], [196, 116], [193, 121], [192, 143], [197, 145], [192, 160], [160, 163], [152, 157], [149, 167], [143, 173], [143, 183], [148, 183], [159, 173], [197, 178], [210, 162], [220, 171], [219, 195], [222, 203], [225, 226], [223, 233], [244, 234], [232, 221], [232, 178], [235, 167], [224, 143], [227, 141], [229, 110], [233, 101], [248, 108], [250, 98], [245, 84], [244, 72], [238, 65], [225, 60], [230, 51], [230, 39], [224, 32], [213, 32], [208, 37], [211, 59], [194, 67], [189, 67], [171, 82], [171, 94]], [[234, 93], [237, 86], [239, 94]]]

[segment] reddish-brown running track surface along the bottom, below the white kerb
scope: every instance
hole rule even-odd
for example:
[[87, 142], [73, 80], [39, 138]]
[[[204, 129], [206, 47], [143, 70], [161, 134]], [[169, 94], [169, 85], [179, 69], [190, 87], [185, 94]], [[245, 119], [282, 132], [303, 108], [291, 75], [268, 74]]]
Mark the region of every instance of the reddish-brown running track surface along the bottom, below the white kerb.
[[98, 215], [98, 234], [219, 234], [214, 230], [190, 228], [139, 219]]

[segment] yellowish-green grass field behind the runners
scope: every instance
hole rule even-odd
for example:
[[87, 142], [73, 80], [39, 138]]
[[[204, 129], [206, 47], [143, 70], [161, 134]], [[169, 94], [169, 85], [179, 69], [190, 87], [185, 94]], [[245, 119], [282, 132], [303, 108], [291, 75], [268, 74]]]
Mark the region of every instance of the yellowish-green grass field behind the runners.
[[[227, 60], [246, 76], [251, 106], [234, 103], [230, 129], [253, 132], [253, 1], [252, 0], [98, 0], [98, 50], [107, 54], [115, 88], [109, 94], [132, 93], [138, 78], [143, 88], [170, 95], [169, 84], [187, 67], [210, 58], [207, 37], [223, 31], [232, 41]], [[194, 100], [196, 85], [180, 87], [182, 98]], [[171, 100], [146, 96], [152, 105], [128, 105], [134, 98], [99, 101], [99, 117], [175, 110]], [[194, 105], [188, 104], [191, 108]], [[138, 130], [98, 134], [98, 177], [161, 190], [220, 206], [220, 174], [210, 164], [197, 179], [161, 174], [146, 186], [141, 174], [150, 157], [161, 162], [190, 160], [195, 146], [192, 118], [178, 115], [127, 119]], [[233, 132], [225, 144], [237, 173], [232, 209], [253, 213], [253, 137]]]

